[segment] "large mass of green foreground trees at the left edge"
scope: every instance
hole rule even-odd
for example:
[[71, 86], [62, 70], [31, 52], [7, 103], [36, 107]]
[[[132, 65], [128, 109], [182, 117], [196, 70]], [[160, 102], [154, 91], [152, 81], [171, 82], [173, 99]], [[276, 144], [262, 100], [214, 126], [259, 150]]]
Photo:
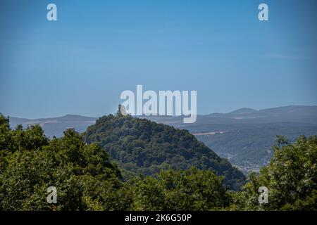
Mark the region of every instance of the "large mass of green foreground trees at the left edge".
[[[42, 128], [11, 130], [0, 115], [0, 210], [123, 210], [130, 200], [116, 165], [72, 129], [46, 139]], [[55, 186], [57, 204], [46, 202]]]

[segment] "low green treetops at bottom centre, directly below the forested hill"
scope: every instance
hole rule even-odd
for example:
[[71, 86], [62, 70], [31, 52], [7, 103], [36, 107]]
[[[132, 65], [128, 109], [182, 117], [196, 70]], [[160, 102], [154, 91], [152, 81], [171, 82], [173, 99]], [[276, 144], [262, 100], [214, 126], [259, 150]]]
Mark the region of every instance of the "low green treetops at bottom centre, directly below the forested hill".
[[134, 190], [135, 210], [218, 210], [230, 203], [223, 177], [195, 167], [168, 169], [157, 179], [138, 177], [130, 184]]

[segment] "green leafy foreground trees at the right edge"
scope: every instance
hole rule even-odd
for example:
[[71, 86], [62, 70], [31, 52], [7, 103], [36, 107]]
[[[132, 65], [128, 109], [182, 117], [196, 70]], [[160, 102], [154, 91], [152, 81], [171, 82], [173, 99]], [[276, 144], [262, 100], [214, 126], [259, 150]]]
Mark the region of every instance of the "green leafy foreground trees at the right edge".
[[[260, 174], [251, 174], [236, 194], [240, 210], [317, 210], [317, 136], [300, 136], [293, 144], [278, 136], [274, 156]], [[268, 188], [268, 204], [259, 206], [258, 189]]]

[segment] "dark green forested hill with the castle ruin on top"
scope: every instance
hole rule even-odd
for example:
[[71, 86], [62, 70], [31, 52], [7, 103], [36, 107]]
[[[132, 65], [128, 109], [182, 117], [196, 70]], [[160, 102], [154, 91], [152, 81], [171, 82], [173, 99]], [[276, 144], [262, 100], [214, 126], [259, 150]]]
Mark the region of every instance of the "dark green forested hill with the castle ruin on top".
[[[225, 184], [237, 189], [244, 175], [220, 158], [187, 130], [146, 119], [107, 115], [87, 128], [87, 143], [98, 143], [121, 168], [134, 174], [153, 175], [160, 169], [211, 169], [225, 176]], [[131, 174], [131, 173], [130, 173]]]

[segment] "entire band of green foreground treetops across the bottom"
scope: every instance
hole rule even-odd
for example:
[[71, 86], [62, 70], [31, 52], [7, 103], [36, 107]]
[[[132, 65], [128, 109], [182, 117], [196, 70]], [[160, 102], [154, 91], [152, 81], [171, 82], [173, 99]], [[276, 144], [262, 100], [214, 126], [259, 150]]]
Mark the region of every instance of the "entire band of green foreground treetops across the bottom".
[[[317, 210], [317, 136], [279, 136], [271, 163], [231, 191], [211, 169], [133, 176], [73, 129], [47, 139], [41, 127], [11, 129], [0, 114], [0, 210]], [[49, 186], [57, 203], [46, 201]], [[259, 187], [268, 203], [259, 204]]]

